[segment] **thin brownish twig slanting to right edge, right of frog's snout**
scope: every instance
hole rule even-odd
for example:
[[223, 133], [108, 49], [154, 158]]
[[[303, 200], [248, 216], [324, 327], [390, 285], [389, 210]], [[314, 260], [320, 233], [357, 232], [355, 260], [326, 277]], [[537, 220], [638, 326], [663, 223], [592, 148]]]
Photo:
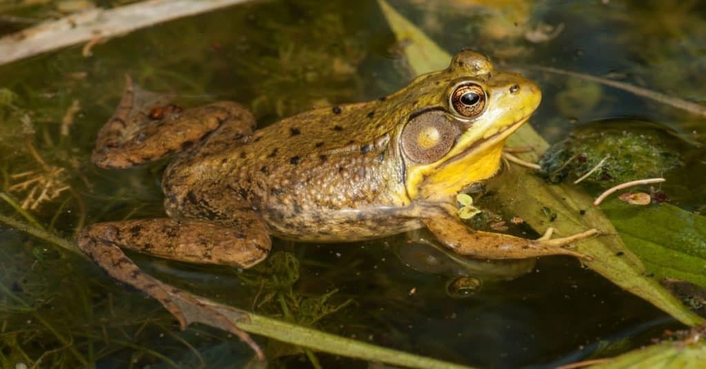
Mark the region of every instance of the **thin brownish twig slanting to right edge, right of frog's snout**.
[[606, 86], [618, 88], [618, 90], [628, 91], [629, 93], [642, 96], [643, 98], [662, 102], [662, 104], [669, 105], [671, 107], [676, 107], [677, 109], [685, 110], [695, 115], [706, 117], [706, 106], [697, 104], [696, 102], [675, 98], [674, 96], [664, 95], [664, 93], [658, 93], [653, 90], [648, 90], [647, 88], [633, 86], [630, 83], [613, 81], [608, 78], [592, 76], [590, 74], [583, 74], [575, 71], [566, 71], [564, 69], [552, 68], [551, 66], [525, 66], [525, 68], [534, 69], [536, 71], [544, 71], [553, 74], [562, 74], [563, 76], [572, 76], [576, 78], [585, 79], [587, 81], [601, 83]]

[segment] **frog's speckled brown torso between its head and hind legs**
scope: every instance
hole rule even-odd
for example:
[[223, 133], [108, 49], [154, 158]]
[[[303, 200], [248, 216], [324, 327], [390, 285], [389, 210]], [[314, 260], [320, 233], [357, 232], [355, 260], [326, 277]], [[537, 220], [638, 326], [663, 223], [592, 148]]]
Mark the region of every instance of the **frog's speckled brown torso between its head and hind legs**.
[[404, 173], [375, 105], [304, 112], [217, 149], [207, 139], [165, 172], [167, 209], [225, 222], [254, 209], [280, 236], [319, 240], [339, 224], [352, 229], [351, 218], [378, 218], [378, 209], [404, 205], [396, 195]]

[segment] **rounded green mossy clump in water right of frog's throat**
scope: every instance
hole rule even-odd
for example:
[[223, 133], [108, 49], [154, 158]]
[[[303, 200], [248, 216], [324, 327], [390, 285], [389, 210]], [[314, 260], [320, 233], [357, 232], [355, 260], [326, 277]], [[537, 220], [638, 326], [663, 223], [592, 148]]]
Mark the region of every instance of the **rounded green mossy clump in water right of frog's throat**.
[[551, 146], [539, 159], [539, 174], [552, 183], [577, 180], [612, 187], [618, 183], [660, 177], [682, 165], [681, 140], [648, 124], [590, 124]]

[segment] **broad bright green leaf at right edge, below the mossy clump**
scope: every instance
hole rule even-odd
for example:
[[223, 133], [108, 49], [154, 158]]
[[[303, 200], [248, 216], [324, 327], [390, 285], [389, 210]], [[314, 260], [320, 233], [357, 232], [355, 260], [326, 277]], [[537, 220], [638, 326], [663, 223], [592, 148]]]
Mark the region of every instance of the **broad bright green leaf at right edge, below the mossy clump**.
[[601, 208], [654, 279], [706, 288], [706, 217], [669, 204], [630, 206], [617, 199]]

